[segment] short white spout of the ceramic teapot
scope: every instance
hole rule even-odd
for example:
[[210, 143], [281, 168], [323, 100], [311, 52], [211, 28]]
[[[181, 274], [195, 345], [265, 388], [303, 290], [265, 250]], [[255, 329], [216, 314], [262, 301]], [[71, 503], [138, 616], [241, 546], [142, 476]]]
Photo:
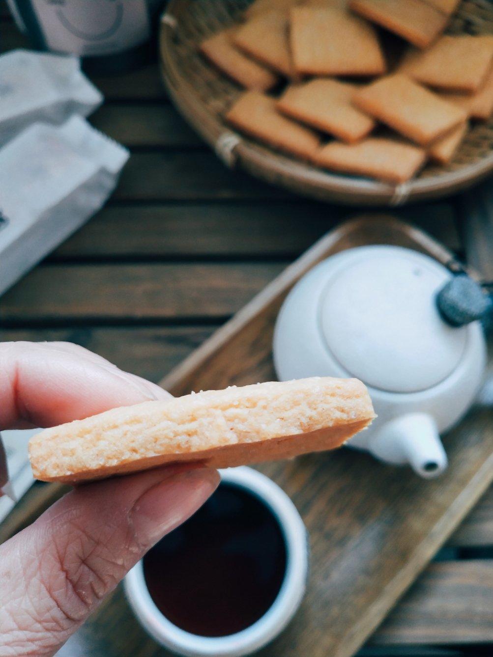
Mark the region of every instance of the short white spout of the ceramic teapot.
[[431, 479], [447, 467], [447, 455], [433, 417], [427, 413], [408, 413], [387, 422], [370, 451], [391, 463], [409, 463], [419, 476]]

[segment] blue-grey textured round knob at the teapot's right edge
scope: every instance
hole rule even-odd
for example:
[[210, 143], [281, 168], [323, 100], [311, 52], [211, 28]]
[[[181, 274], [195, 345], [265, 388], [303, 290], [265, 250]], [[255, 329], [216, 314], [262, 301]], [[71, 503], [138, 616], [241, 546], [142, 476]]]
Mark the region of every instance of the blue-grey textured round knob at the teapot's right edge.
[[448, 325], [462, 327], [483, 319], [492, 303], [479, 283], [466, 274], [459, 274], [438, 292], [436, 306]]

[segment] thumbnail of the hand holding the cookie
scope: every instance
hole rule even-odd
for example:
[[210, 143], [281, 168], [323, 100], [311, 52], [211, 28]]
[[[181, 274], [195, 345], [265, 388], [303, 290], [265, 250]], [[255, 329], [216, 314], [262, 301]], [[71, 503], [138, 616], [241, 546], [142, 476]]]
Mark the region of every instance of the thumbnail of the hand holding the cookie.
[[187, 470], [145, 491], [130, 511], [139, 543], [149, 548], [187, 520], [214, 493], [220, 482], [216, 470]]

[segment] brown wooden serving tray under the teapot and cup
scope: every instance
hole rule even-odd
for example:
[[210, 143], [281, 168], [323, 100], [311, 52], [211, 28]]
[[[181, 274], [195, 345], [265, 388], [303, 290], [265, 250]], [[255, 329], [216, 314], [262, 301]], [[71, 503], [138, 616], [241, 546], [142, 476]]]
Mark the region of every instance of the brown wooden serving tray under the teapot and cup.
[[[461, 265], [433, 238], [393, 219], [362, 217], [321, 238], [162, 381], [174, 395], [275, 378], [273, 325], [294, 283], [346, 248], [396, 244]], [[444, 444], [436, 480], [340, 449], [262, 464], [291, 496], [310, 534], [306, 597], [286, 631], [259, 654], [348, 657], [381, 623], [493, 480], [491, 409], [476, 405]]]

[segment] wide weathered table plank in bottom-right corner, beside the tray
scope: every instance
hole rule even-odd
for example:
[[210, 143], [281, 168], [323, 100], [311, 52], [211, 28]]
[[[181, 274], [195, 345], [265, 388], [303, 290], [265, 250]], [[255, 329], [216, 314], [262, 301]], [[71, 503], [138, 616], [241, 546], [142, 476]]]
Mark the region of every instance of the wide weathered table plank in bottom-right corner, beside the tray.
[[384, 644], [493, 641], [493, 562], [431, 564], [372, 637]]

